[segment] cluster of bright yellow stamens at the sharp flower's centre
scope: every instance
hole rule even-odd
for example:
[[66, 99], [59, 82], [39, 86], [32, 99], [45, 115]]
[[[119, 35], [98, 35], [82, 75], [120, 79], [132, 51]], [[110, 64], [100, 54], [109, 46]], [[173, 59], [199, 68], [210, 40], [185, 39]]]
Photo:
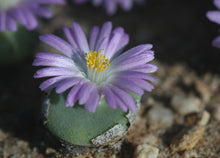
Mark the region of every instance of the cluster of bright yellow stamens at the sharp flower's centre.
[[102, 50], [96, 52], [91, 50], [89, 53], [85, 54], [87, 67], [92, 68], [95, 72], [102, 72], [105, 69], [109, 69], [109, 59], [103, 54], [100, 55], [101, 51]]

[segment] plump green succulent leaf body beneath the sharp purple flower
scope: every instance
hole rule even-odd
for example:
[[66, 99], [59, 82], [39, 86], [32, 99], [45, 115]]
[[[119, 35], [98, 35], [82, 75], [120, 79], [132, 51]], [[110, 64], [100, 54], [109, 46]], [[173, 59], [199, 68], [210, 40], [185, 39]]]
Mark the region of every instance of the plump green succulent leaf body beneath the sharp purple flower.
[[[74, 107], [65, 107], [65, 98], [65, 94], [51, 93], [46, 122], [46, 127], [65, 142], [74, 145], [92, 145], [93, 138], [116, 124], [121, 124], [125, 131], [128, 129], [127, 112], [108, 107], [103, 96], [94, 113], [86, 111], [78, 103]], [[137, 95], [133, 98], [140, 99]]]

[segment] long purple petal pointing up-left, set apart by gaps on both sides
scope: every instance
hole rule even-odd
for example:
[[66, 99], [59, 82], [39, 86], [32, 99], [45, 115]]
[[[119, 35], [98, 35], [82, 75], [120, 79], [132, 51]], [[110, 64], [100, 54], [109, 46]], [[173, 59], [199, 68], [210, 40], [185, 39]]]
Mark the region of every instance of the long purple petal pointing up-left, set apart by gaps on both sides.
[[53, 34], [46, 34], [46, 35], [40, 36], [39, 38], [41, 41], [55, 48], [56, 50], [62, 52], [64, 55], [68, 57], [72, 56], [71, 45], [67, 43], [66, 41], [64, 41], [63, 39]]

